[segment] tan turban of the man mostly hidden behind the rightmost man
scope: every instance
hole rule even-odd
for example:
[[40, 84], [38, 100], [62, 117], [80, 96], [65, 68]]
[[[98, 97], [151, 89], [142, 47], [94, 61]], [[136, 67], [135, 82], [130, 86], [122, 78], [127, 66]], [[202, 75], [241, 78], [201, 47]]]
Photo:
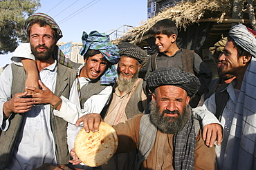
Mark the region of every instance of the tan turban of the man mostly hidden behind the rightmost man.
[[223, 37], [217, 43], [214, 44], [214, 47], [209, 48], [210, 52], [212, 52], [212, 56], [213, 56], [212, 60], [214, 61], [214, 63], [218, 63], [219, 54], [223, 52], [227, 41], [228, 41], [228, 38]]

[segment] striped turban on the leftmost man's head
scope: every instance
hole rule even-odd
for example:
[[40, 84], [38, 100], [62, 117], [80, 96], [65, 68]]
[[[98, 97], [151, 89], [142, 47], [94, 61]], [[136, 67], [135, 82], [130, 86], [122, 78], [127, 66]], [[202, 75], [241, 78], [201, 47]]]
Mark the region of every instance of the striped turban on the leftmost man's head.
[[57, 23], [54, 21], [54, 19], [52, 17], [50, 17], [44, 13], [36, 13], [36, 14], [30, 15], [30, 17], [28, 17], [28, 19], [26, 19], [25, 25], [24, 25], [24, 29], [25, 29], [26, 33], [28, 33], [28, 26], [30, 26], [30, 21], [32, 21], [33, 19], [42, 19], [42, 20], [46, 21], [46, 23], [48, 23], [48, 25], [50, 25], [52, 29], [56, 30], [57, 35], [59, 36], [59, 37], [57, 37], [57, 39], [62, 38], [62, 36], [63, 36], [62, 30], [60, 30], [59, 25], [57, 25]]

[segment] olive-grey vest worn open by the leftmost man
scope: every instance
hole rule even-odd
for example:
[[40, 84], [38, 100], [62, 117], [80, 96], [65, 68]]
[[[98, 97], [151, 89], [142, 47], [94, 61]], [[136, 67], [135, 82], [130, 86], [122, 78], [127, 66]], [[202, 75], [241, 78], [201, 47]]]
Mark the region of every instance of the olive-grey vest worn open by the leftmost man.
[[[69, 98], [69, 92], [75, 81], [76, 72], [68, 67], [58, 64], [57, 67], [57, 81], [55, 88], [55, 95], [65, 96]], [[20, 67], [12, 64], [12, 87], [11, 94], [14, 96], [17, 93], [24, 92], [26, 81], [26, 72], [24, 67]], [[12, 97], [11, 96], [11, 97]], [[8, 99], [10, 100], [10, 98]], [[24, 114], [12, 114], [10, 117], [10, 126], [7, 131], [3, 131], [0, 136], [0, 169], [6, 169], [12, 151], [15, 147], [17, 136], [19, 135], [19, 129], [23, 121]], [[53, 130], [53, 136], [56, 147], [57, 164], [68, 164], [70, 155], [68, 152], [68, 145], [66, 140], [66, 127], [67, 123], [62, 118], [58, 118], [53, 115], [51, 111], [51, 128]]]

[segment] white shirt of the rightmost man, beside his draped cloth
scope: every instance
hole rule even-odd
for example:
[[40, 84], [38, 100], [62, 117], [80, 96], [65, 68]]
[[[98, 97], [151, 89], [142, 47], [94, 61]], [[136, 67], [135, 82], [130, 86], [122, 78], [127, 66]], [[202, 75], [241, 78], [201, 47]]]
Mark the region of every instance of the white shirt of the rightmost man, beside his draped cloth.
[[[227, 101], [226, 107], [223, 109], [223, 114], [221, 116], [221, 125], [223, 127], [223, 140], [221, 142], [221, 145], [215, 146], [218, 169], [221, 169], [221, 165], [223, 164], [223, 159], [225, 158], [225, 155], [230, 156], [229, 158], [227, 156], [225, 158], [225, 161], [228, 161], [228, 162], [232, 162], [232, 159], [238, 158], [238, 156], [236, 156], [236, 153], [239, 153], [238, 151], [239, 146], [235, 145], [235, 142], [234, 142], [234, 140], [236, 140], [235, 138], [232, 139], [233, 140], [232, 142], [234, 142], [232, 149], [226, 148], [227, 143], [230, 140], [230, 134], [232, 134], [232, 136], [236, 136], [236, 138], [240, 138], [239, 134], [231, 130], [232, 120], [235, 112], [235, 106], [237, 104], [237, 96], [235, 95], [235, 91], [234, 91], [234, 87], [236, 83], [237, 81], [234, 80], [226, 88], [229, 94], [229, 99]], [[194, 111], [196, 111], [197, 114], [199, 114], [199, 116], [201, 116], [202, 118], [203, 116], [205, 116], [205, 114], [211, 114], [211, 113], [216, 114], [215, 94], [212, 94], [210, 98], [205, 100], [205, 102], [201, 107], [197, 107], [196, 109], [194, 109]], [[208, 124], [208, 120], [205, 119], [204, 123]], [[241, 129], [241, 127], [237, 127], [237, 128]], [[241, 131], [241, 130], [238, 130], [238, 131]]]

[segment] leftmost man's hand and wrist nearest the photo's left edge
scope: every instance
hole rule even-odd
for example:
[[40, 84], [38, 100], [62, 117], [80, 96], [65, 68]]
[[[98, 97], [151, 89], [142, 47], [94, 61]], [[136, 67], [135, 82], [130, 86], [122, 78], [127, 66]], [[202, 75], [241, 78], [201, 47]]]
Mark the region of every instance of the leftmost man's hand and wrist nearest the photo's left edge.
[[10, 100], [3, 103], [3, 113], [5, 118], [8, 118], [12, 113], [25, 113], [33, 107], [35, 102], [31, 96], [26, 96], [27, 94], [27, 92], [15, 94]]

